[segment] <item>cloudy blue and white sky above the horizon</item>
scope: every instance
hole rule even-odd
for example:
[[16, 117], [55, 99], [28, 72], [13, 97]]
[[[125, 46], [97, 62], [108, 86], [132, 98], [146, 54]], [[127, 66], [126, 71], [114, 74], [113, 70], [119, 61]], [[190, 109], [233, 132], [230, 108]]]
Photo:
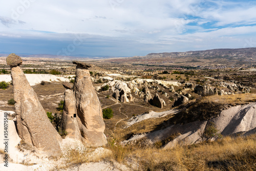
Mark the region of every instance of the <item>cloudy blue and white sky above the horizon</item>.
[[256, 47], [256, 1], [1, 0], [0, 52], [144, 56]]

